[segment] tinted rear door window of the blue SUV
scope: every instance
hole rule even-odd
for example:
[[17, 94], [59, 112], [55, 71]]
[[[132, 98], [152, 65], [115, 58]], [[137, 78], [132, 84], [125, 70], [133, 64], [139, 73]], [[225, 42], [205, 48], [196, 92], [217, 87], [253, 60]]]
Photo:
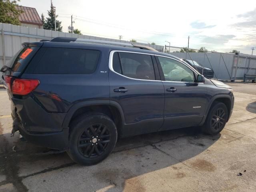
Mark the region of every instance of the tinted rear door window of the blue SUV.
[[113, 69], [115, 72], [130, 78], [156, 79], [150, 55], [115, 52], [113, 55]]

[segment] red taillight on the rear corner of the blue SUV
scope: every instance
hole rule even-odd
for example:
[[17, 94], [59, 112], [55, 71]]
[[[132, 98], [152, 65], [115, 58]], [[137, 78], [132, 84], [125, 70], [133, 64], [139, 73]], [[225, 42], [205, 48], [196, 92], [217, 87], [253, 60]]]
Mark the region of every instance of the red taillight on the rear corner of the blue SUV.
[[37, 79], [14, 79], [12, 82], [12, 94], [27, 95], [32, 92], [38, 85]]

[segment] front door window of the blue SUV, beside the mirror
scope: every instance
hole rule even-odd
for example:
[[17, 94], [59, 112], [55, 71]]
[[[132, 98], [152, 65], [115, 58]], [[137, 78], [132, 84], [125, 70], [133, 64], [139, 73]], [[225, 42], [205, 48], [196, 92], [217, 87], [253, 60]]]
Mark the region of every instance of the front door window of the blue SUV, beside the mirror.
[[158, 57], [166, 81], [194, 82], [194, 72], [176, 60]]

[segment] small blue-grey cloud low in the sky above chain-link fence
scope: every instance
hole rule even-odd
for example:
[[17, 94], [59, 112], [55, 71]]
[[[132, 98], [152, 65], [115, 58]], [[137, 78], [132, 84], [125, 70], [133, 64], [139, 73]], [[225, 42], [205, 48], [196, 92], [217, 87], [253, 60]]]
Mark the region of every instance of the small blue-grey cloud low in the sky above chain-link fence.
[[216, 36], [200, 36], [203, 43], [207, 44], [225, 44], [229, 40], [235, 38], [235, 35], [216, 35]]

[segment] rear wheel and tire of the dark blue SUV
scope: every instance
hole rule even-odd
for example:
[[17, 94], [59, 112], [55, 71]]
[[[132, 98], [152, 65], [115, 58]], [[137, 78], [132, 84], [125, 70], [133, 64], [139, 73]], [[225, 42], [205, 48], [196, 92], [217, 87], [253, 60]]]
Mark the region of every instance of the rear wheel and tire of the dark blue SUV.
[[67, 153], [78, 164], [97, 164], [104, 160], [116, 145], [116, 125], [105, 114], [83, 114], [71, 123], [70, 128]]

